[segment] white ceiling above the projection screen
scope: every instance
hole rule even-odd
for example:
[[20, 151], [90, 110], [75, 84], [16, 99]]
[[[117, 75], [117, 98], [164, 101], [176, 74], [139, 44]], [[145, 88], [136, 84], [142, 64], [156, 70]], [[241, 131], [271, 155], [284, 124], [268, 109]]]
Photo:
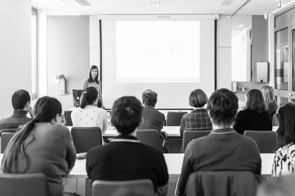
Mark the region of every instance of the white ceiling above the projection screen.
[[[81, 6], [75, 0], [31, 0], [36, 9], [48, 9], [48, 15], [98, 14], [222, 14], [232, 15], [246, 0], [233, 0], [220, 5], [222, 0], [88, 0], [91, 6]], [[294, 0], [285, 0], [285, 4]], [[263, 15], [277, 10], [276, 0], [251, 0], [237, 14]]]

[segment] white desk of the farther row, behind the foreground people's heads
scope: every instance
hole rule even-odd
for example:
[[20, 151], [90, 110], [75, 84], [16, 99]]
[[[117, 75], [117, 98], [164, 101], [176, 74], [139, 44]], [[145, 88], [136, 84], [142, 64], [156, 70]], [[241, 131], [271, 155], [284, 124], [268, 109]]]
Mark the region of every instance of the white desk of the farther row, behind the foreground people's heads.
[[[72, 126], [67, 126], [67, 128], [71, 131]], [[162, 131], [165, 131], [168, 134], [168, 138], [180, 137], [179, 128], [179, 126], [163, 126]], [[277, 131], [278, 128], [278, 126], [273, 126], [272, 131]], [[116, 135], [118, 135], [116, 129], [108, 129], [104, 134], [102, 134], [103, 137], [115, 137]]]

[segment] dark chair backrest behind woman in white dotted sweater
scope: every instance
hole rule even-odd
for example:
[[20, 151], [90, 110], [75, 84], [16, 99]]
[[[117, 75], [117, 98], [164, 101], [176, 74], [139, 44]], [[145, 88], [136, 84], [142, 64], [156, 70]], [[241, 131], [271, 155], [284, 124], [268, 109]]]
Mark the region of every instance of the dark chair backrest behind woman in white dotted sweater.
[[102, 145], [102, 132], [98, 126], [75, 127], [71, 129], [77, 153], [88, 152], [92, 147]]

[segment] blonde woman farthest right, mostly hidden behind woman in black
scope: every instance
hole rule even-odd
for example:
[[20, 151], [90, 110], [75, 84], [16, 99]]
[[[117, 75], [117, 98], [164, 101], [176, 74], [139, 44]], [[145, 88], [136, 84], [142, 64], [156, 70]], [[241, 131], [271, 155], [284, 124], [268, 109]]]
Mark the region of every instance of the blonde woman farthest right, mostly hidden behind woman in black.
[[278, 109], [274, 97], [273, 88], [271, 86], [263, 86], [261, 91], [267, 104], [267, 112], [270, 114], [270, 117], [272, 119], [273, 115], [276, 113]]

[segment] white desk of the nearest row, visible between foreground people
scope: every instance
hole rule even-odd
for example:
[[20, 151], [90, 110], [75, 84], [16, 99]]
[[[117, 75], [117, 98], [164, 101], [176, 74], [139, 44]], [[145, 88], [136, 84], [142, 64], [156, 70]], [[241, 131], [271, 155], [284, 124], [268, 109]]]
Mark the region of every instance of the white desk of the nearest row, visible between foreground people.
[[[264, 177], [270, 177], [271, 175], [274, 155], [274, 153], [260, 154], [262, 159], [261, 174]], [[184, 154], [164, 154], [164, 157], [167, 164], [169, 177], [179, 177], [181, 173]], [[2, 161], [2, 158], [3, 154], [0, 154], [0, 161]], [[73, 170], [68, 174], [67, 178], [86, 179], [87, 177], [86, 160], [77, 159]]]

